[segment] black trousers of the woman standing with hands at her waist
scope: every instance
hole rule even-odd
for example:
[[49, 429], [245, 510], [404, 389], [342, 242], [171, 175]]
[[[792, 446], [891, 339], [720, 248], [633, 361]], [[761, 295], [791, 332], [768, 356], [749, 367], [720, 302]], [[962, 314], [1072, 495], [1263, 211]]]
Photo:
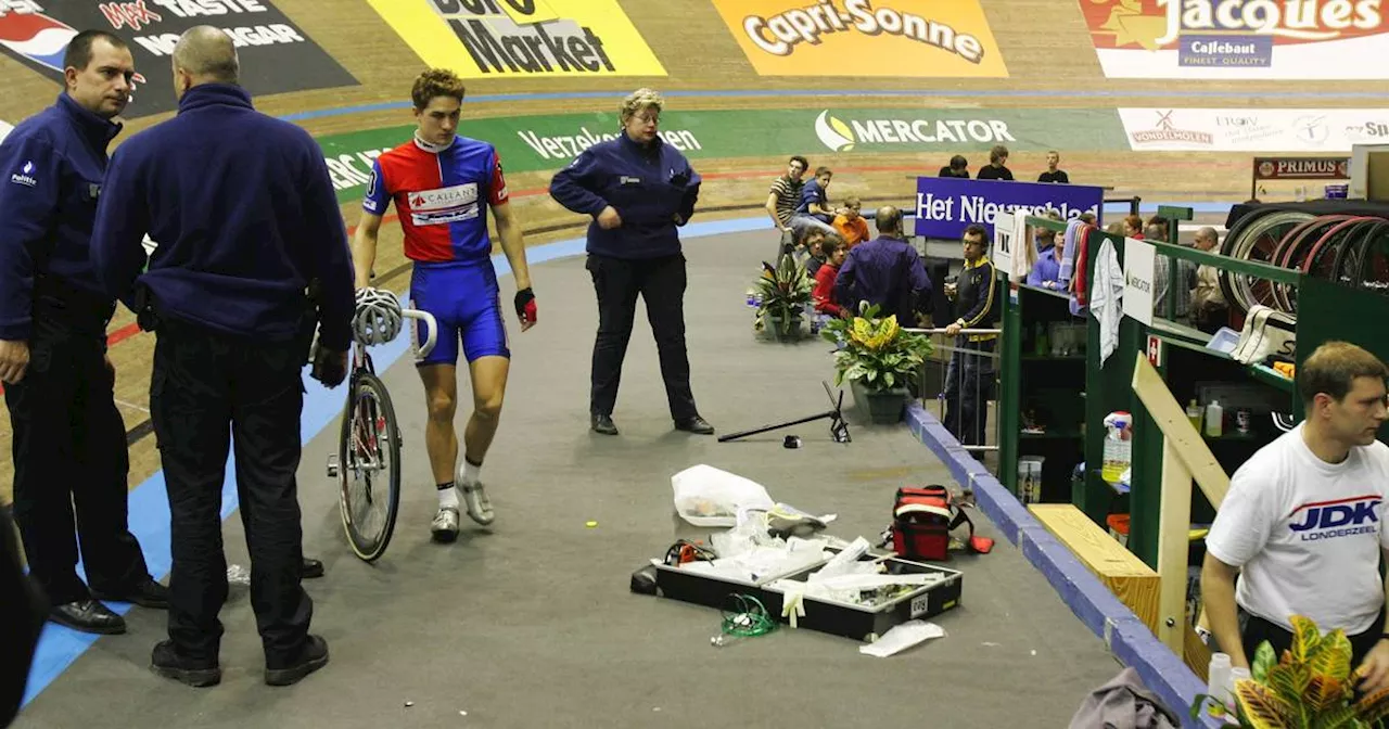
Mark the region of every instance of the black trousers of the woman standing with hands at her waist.
[[699, 415], [694, 394], [690, 393], [690, 361], [685, 349], [685, 255], [625, 260], [589, 254], [586, 268], [593, 275], [599, 299], [590, 412], [611, 415], [617, 405], [622, 360], [632, 339], [636, 296], [640, 294], [661, 358], [671, 418], [679, 421]]

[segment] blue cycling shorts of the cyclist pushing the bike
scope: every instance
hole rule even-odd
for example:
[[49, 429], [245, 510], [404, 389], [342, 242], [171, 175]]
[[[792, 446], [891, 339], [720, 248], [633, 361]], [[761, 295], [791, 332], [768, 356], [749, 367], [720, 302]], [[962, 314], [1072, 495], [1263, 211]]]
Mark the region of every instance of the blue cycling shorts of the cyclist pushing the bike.
[[[478, 357], [511, 357], [501, 318], [497, 272], [492, 261], [478, 264], [417, 262], [410, 280], [411, 308], [428, 311], [439, 325], [433, 351], [417, 367], [458, 364], [458, 344], [472, 362]], [[415, 324], [415, 346], [429, 335]]]

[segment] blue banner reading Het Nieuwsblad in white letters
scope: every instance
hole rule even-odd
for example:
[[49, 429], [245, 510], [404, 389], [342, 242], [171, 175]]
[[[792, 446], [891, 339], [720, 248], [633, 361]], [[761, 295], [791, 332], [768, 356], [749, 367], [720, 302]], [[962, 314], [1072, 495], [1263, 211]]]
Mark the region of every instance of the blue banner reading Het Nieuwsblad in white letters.
[[1104, 189], [1047, 182], [1004, 182], [960, 178], [917, 178], [915, 235], [958, 239], [971, 224], [982, 224], [993, 237], [995, 215], [1046, 215], [1061, 219], [1082, 212], [1096, 218], [1104, 207]]

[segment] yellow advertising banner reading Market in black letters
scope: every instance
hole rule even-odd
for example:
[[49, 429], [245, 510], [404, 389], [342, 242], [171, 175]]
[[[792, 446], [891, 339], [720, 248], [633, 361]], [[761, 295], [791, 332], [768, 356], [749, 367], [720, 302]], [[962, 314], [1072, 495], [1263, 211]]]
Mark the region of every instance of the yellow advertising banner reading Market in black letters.
[[664, 76], [617, 0], [367, 0], [429, 67], [463, 78]]

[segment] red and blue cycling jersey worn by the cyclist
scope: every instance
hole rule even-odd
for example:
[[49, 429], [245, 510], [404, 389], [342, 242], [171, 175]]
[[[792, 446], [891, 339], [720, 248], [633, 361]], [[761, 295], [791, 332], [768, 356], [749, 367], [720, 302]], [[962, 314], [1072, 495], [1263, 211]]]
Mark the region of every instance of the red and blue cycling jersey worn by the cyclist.
[[440, 153], [414, 139], [376, 157], [363, 208], [383, 215], [394, 200], [406, 257], [417, 262], [492, 261], [486, 206], [508, 200], [497, 150], [456, 136]]

